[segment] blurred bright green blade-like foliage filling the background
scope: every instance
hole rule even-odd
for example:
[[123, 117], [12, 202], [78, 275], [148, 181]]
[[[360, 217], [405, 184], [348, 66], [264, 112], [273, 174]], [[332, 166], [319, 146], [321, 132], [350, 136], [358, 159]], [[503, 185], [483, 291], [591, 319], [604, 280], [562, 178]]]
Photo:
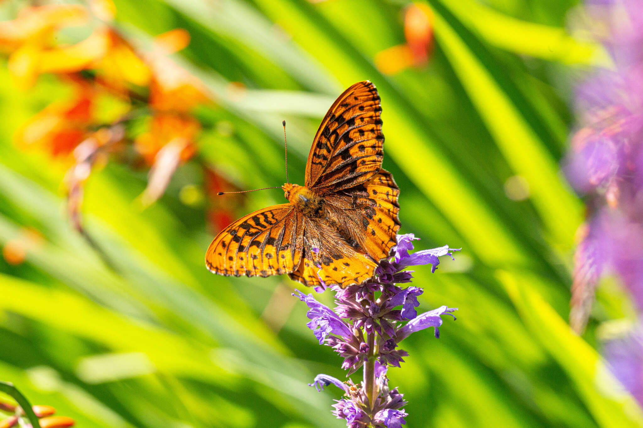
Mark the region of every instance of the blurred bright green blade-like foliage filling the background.
[[[203, 184], [194, 162], [242, 189], [282, 184], [282, 119], [291, 181], [302, 183], [327, 108], [371, 80], [401, 231], [421, 237], [419, 248], [462, 247], [435, 274], [414, 274], [425, 290], [419, 309], [459, 310], [440, 339], [404, 341], [410, 357], [389, 372], [409, 401], [406, 426], [642, 425], [593, 341], [598, 321], [621, 315], [619, 297], [602, 295], [583, 338], [566, 323], [583, 214], [559, 173], [572, 126], [566, 98], [570, 75], [604, 61], [563, 30], [575, 3], [430, 0], [428, 65], [390, 76], [374, 58], [404, 43], [406, 1], [116, 0], [115, 25], [143, 45], [189, 31], [176, 60], [216, 102], [197, 112], [198, 157], [148, 209], [132, 202], [143, 171], [112, 162], [89, 178], [86, 227], [115, 269], [69, 226], [66, 167], [12, 144], [63, 83], [45, 75], [21, 91], [0, 64], [0, 245], [24, 228], [44, 237], [22, 264], [0, 259], [0, 379], [79, 427], [342, 426], [330, 412], [339, 392], [307, 386], [316, 373], [343, 373], [305, 327], [305, 307], [289, 296], [295, 284], [209, 273], [204, 205], [181, 203], [179, 191]], [[3, 18], [16, 7], [0, 4]], [[242, 98], [233, 81], [246, 86]], [[529, 198], [507, 197], [516, 183]], [[250, 193], [236, 214], [280, 201], [280, 190]]]

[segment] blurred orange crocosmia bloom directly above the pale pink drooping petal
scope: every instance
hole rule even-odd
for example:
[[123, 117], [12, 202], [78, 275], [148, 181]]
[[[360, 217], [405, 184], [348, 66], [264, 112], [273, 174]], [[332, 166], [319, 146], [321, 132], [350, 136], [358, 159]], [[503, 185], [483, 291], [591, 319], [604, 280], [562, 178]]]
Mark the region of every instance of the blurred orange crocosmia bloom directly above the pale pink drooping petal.
[[136, 138], [134, 147], [148, 165], [153, 165], [163, 146], [171, 141], [185, 141], [180, 152], [180, 160], [185, 162], [195, 153], [194, 140], [200, 130], [201, 124], [192, 117], [158, 113], [152, 117], [149, 130]]

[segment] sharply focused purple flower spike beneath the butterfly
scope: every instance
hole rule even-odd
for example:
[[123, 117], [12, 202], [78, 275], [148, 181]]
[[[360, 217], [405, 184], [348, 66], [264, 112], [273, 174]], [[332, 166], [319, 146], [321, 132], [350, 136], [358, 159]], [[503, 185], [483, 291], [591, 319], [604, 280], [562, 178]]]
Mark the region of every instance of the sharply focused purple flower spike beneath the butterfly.
[[[308, 305], [307, 316], [311, 321], [307, 326], [320, 345], [331, 347], [343, 358], [341, 368], [347, 376], [361, 368], [364, 370], [363, 381], [358, 384], [350, 378], [341, 382], [328, 375], [317, 375], [309, 384], [318, 391], [330, 384], [344, 391], [345, 396], [333, 404], [333, 414], [345, 420], [347, 428], [401, 428], [406, 423], [407, 413], [402, 409], [406, 401], [397, 388], [388, 387], [386, 377], [389, 367], [401, 366], [408, 356], [398, 343], [412, 332], [427, 327], [434, 327], [435, 336], [439, 336], [440, 316], [455, 311], [442, 306], [417, 314], [418, 296], [424, 290], [403, 287], [402, 284], [413, 279], [412, 271], [403, 269], [413, 264], [433, 264], [431, 271], [435, 271], [440, 256], [451, 256], [451, 252], [458, 250], [445, 245], [409, 253], [416, 239], [419, 238], [413, 234], [398, 235], [394, 256], [379, 262], [374, 278], [368, 282], [341, 288], [327, 287], [321, 281], [321, 287], [316, 290], [334, 291], [334, 310], [315, 300], [312, 294], [305, 295], [299, 290], [293, 293]], [[318, 250], [314, 248], [313, 253]], [[367, 388], [372, 389], [367, 391]]]

